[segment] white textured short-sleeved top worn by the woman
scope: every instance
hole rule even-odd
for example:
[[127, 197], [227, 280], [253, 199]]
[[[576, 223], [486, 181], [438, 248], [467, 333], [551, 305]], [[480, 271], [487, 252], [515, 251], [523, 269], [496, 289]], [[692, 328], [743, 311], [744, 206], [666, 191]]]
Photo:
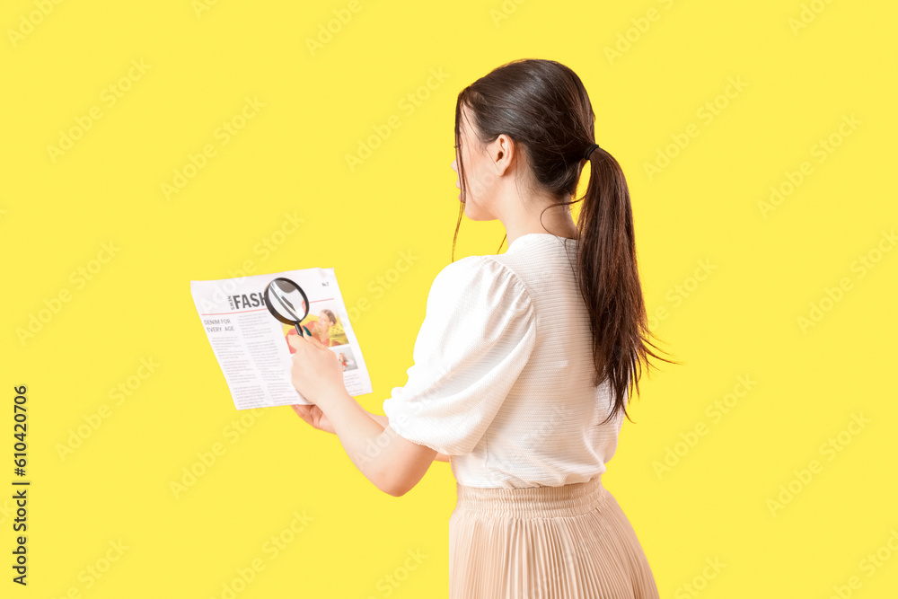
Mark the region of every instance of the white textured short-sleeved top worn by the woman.
[[408, 383], [383, 412], [400, 436], [449, 455], [462, 485], [584, 482], [617, 449], [622, 412], [597, 426], [611, 383], [592, 383], [576, 251], [577, 240], [526, 233], [434, 279]]

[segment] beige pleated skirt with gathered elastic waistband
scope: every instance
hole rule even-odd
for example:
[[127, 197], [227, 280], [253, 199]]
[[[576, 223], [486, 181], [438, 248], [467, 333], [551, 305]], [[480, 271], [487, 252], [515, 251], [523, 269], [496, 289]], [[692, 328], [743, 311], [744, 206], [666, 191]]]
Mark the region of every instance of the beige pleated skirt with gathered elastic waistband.
[[456, 481], [450, 599], [657, 599], [629, 519], [601, 477], [563, 487]]

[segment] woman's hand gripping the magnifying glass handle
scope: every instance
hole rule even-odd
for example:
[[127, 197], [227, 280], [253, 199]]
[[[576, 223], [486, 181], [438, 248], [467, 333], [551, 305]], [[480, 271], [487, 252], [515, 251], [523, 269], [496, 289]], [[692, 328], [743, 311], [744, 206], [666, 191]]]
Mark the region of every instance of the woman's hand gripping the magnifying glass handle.
[[290, 382], [307, 401], [326, 410], [329, 401], [346, 394], [337, 354], [314, 337], [290, 335], [287, 339], [296, 350], [291, 357]]

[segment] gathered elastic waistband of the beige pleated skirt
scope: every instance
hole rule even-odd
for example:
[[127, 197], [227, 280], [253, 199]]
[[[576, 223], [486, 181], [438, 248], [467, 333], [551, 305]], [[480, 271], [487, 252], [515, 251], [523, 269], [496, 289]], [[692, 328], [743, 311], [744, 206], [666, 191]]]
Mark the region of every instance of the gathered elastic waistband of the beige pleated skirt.
[[456, 512], [473, 515], [514, 515], [554, 517], [602, 511], [608, 491], [602, 476], [561, 487], [524, 487], [487, 489], [466, 487], [456, 481]]

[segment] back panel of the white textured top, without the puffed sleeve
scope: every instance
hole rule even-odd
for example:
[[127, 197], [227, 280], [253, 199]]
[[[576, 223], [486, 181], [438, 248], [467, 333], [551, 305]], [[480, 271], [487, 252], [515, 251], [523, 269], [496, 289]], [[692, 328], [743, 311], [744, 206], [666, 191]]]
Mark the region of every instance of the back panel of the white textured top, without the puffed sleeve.
[[489, 256], [514, 271], [536, 312], [536, 344], [486, 433], [453, 473], [472, 487], [556, 487], [605, 471], [622, 412], [608, 381], [596, 387], [589, 315], [574, 277], [577, 240], [528, 233]]

